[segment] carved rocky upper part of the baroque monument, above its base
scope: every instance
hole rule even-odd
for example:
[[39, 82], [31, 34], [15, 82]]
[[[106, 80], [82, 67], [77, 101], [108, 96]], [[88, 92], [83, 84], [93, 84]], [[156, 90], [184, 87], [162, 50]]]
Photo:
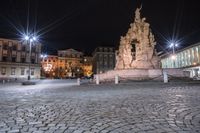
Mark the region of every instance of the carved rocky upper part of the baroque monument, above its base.
[[150, 24], [145, 22], [146, 18], [141, 18], [140, 10], [136, 9], [134, 23], [130, 25], [127, 34], [121, 37], [115, 70], [160, 68], [154, 35]]

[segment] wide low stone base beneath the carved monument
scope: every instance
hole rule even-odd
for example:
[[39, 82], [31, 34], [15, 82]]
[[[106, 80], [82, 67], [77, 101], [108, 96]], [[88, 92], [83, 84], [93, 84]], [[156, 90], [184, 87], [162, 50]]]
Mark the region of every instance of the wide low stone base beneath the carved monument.
[[189, 77], [189, 73], [182, 69], [125, 69], [112, 70], [106, 73], [98, 74], [99, 82], [115, 81], [116, 75], [120, 80], [160, 80], [163, 81], [163, 72], [173, 77]]

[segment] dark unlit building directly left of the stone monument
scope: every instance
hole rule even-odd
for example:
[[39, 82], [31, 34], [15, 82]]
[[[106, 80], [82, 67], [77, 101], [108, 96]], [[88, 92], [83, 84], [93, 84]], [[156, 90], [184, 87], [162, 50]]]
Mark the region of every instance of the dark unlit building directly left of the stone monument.
[[115, 49], [113, 47], [98, 47], [93, 52], [93, 73], [99, 74], [115, 67]]

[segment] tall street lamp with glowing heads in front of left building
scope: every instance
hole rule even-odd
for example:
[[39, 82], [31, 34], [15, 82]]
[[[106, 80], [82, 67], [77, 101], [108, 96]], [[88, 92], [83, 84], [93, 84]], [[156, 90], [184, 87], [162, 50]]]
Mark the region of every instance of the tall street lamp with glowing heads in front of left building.
[[32, 47], [32, 43], [34, 41], [37, 41], [37, 37], [33, 34], [25, 35], [24, 40], [27, 41], [27, 44], [29, 44], [28, 80], [30, 80], [31, 79], [31, 47]]

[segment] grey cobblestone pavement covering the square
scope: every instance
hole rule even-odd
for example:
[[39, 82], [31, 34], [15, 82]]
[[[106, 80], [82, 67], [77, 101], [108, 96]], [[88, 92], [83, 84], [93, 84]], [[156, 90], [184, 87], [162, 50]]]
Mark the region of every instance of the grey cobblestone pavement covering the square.
[[0, 133], [199, 133], [200, 84], [0, 88]]

